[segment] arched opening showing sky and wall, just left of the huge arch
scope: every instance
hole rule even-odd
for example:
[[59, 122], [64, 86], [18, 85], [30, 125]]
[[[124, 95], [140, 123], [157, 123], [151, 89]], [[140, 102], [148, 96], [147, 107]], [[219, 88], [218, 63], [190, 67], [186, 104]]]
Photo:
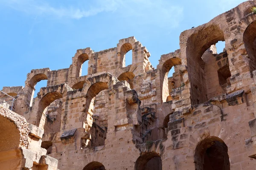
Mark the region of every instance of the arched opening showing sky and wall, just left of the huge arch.
[[[164, 62], [160, 71], [160, 83], [162, 88], [162, 100], [168, 102], [172, 100], [170, 92], [173, 88], [178, 88], [182, 84], [182, 73], [180, 73], [180, 58], [171, 58]], [[173, 71], [172, 77], [168, 78], [170, 70]]]

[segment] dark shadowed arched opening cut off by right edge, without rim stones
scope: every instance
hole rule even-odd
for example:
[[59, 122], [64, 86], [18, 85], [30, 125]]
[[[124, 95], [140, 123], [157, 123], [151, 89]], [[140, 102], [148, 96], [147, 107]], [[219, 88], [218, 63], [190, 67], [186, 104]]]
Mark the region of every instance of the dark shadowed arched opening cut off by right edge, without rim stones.
[[249, 68], [252, 77], [252, 72], [256, 70], [256, 21], [251, 23], [244, 31], [243, 41], [248, 54]]

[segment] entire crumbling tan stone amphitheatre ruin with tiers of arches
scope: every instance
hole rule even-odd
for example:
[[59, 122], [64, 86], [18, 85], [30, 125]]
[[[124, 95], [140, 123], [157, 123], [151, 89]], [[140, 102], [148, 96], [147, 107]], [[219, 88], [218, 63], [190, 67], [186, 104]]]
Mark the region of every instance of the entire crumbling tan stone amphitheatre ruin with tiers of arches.
[[[16, 100], [13, 111], [0, 106], [0, 169], [256, 170], [253, 6], [183, 31], [180, 49], [157, 68], [129, 37], [108, 50], [77, 50], [69, 68], [32, 70], [25, 87], [3, 87]], [[47, 87], [33, 98], [41, 80]]]

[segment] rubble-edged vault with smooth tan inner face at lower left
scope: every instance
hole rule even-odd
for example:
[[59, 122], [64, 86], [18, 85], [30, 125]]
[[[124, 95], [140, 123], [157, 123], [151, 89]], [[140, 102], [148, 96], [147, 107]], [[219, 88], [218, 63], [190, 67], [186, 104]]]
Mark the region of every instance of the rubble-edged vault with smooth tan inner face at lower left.
[[0, 151], [27, 147], [29, 124], [23, 116], [0, 107]]

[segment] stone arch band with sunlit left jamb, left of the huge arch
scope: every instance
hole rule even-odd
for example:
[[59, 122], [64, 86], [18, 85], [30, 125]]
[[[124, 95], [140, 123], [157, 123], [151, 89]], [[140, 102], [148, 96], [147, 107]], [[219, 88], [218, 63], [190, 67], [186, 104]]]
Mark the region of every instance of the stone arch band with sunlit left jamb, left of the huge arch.
[[170, 91], [168, 85], [168, 73], [170, 69], [175, 65], [181, 65], [180, 50], [162, 55], [159, 64], [157, 65], [157, 69], [160, 70], [160, 87], [163, 102], [169, 101], [168, 97], [170, 95]]

